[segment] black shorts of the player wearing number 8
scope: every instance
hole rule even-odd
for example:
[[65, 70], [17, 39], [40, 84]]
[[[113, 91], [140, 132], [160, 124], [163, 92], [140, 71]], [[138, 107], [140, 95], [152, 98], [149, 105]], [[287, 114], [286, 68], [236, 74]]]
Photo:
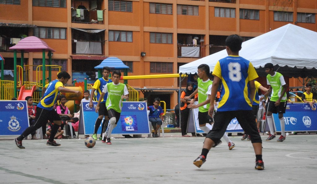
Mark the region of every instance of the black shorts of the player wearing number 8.
[[217, 143], [226, 132], [230, 121], [235, 117], [244, 132], [250, 136], [252, 143], [262, 143], [262, 139], [256, 124], [254, 123], [254, 117], [251, 110], [217, 111], [214, 116], [215, 123], [212, 130], [209, 131], [206, 137]]

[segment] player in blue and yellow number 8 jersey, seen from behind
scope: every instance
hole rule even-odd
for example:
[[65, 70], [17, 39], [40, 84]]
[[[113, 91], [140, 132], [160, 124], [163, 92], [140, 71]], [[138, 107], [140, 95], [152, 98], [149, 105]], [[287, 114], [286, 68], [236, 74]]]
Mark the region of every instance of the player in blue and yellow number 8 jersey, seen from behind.
[[[258, 170], [264, 169], [262, 161], [262, 139], [254, 123], [252, 114], [252, 101], [255, 94], [254, 79], [258, 77], [250, 61], [239, 56], [242, 38], [230, 35], [226, 39], [226, 50], [229, 56], [219, 60], [214, 68], [214, 81], [211, 88], [210, 107], [208, 114], [213, 116], [214, 101], [217, 89], [222, 81], [221, 97], [214, 117], [214, 126], [207, 134], [201, 155], [193, 162], [201, 167], [206, 162], [206, 157], [214, 143], [218, 142], [233, 118], [237, 118], [246, 134], [250, 135], [251, 143], [256, 154]], [[241, 95], [243, 92], [243, 95]], [[235, 102], [236, 105], [232, 105]]]

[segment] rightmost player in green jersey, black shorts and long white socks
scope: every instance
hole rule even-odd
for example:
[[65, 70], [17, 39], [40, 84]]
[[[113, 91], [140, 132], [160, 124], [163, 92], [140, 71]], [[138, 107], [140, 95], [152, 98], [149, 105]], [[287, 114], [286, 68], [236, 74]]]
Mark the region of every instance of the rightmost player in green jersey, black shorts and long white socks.
[[264, 65], [265, 72], [268, 74], [266, 76], [267, 83], [269, 85], [268, 92], [264, 96], [268, 96], [271, 93], [270, 101], [268, 102], [268, 112], [266, 118], [268, 120], [268, 127], [270, 129], [270, 135], [266, 141], [270, 141], [275, 138], [275, 133], [273, 129], [273, 117], [272, 113], [277, 114], [281, 123], [281, 136], [277, 142], [283, 142], [285, 140], [285, 121], [283, 114], [286, 110], [287, 97], [286, 97], [286, 83], [284, 77], [281, 73], [274, 72], [272, 63], [267, 63]]

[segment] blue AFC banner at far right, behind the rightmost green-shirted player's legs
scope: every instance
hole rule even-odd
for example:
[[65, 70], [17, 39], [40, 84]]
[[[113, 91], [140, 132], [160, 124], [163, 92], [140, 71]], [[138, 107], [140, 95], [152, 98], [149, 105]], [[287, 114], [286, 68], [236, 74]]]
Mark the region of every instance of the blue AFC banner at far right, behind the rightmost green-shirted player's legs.
[[[317, 111], [307, 103], [287, 104], [284, 114], [285, 131], [317, 131]], [[273, 114], [276, 131], [281, 131], [278, 114]]]

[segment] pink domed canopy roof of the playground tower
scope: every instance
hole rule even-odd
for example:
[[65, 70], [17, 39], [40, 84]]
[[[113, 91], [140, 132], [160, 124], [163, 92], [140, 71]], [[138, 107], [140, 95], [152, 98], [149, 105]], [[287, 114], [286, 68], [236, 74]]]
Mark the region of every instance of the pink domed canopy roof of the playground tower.
[[9, 49], [23, 50], [24, 52], [42, 52], [45, 51], [55, 52], [54, 49], [50, 48], [43, 40], [36, 36], [28, 36], [19, 41], [15, 46]]

